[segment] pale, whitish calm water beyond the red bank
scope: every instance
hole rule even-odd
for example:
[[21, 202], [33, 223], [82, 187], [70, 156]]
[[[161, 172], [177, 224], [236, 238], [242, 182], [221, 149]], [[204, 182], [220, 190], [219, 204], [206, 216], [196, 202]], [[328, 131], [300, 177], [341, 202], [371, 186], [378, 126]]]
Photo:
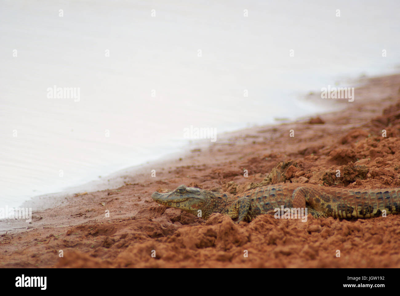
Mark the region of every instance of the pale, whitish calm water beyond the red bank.
[[177, 152], [191, 125], [326, 111], [299, 98], [398, 71], [398, 1], [204, 3], [1, 1], [0, 207]]

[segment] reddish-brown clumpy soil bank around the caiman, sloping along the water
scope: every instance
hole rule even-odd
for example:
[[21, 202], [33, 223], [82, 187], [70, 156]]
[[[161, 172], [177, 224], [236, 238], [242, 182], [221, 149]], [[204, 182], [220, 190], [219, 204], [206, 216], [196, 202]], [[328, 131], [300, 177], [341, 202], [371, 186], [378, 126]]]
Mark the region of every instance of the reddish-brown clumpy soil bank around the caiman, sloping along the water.
[[[2, 232], [2, 267], [399, 268], [400, 215], [352, 221], [309, 215], [307, 222], [260, 215], [238, 225], [220, 214], [204, 221], [150, 197], [180, 184], [229, 193], [278, 182], [400, 187], [399, 86], [400, 75], [369, 79], [354, 102], [336, 100], [340, 112], [229, 134], [146, 168], [119, 189], [36, 211], [27, 231]], [[323, 103], [318, 96], [314, 102]]]

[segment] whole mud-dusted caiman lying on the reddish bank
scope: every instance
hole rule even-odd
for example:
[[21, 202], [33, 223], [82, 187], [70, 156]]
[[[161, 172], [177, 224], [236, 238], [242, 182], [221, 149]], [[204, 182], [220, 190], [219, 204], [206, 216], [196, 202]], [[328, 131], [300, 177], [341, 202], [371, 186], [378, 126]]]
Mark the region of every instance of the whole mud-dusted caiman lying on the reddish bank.
[[169, 193], [154, 192], [159, 204], [208, 219], [212, 213], [228, 215], [237, 222], [252, 221], [275, 208], [305, 208], [314, 217], [372, 218], [400, 213], [400, 188], [340, 189], [312, 184], [283, 183], [255, 188], [240, 195], [206, 191], [180, 185]]

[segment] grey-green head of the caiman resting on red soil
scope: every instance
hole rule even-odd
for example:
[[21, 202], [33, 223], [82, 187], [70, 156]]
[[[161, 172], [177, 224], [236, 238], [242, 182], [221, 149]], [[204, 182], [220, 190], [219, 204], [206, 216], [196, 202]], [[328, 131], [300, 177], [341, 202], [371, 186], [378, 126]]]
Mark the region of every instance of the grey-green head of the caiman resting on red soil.
[[152, 199], [161, 205], [173, 207], [198, 215], [201, 210], [201, 217], [207, 219], [211, 214], [212, 204], [215, 196], [211, 191], [206, 191], [194, 187], [178, 186], [174, 191], [168, 193], [158, 193], [151, 195]]

